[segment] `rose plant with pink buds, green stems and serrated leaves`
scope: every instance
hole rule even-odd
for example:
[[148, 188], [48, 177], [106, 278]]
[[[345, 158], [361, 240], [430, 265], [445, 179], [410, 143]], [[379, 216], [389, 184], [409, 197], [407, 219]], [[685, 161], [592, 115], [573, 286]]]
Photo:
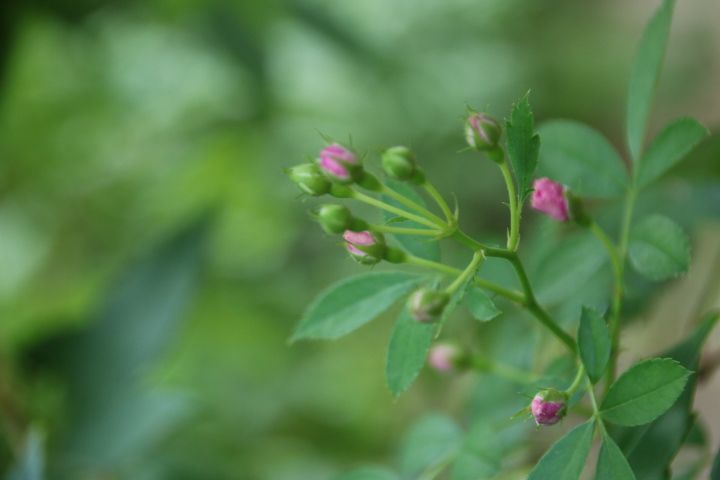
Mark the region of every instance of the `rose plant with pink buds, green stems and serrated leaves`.
[[[437, 420], [428, 421], [414, 434], [425, 432], [437, 440], [431, 445], [442, 445], [428, 447], [431, 455], [402, 467], [405, 477], [444, 475], [462, 480], [527, 474], [530, 479], [578, 479], [584, 469], [594, 468], [597, 479], [670, 478], [671, 462], [695, 424], [692, 396], [699, 351], [718, 316], [706, 314], [697, 331], [675, 349], [622, 373], [618, 352], [628, 264], [651, 281], [674, 278], [689, 268], [690, 242], [680, 226], [660, 212], [639, 220], [635, 215], [644, 190], [707, 135], [697, 121], [683, 118], [645, 144], [673, 4], [664, 0], [640, 41], [627, 104], [627, 163], [601, 134], [580, 123], [549, 121], [536, 129], [528, 95], [512, 107], [506, 122], [469, 112], [464, 132], [468, 148], [497, 165], [507, 190], [509, 221], [503, 245], [473, 238], [461, 228], [460, 209], [451, 208], [406, 146], [380, 154], [384, 181], [366, 168], [357, 152], [338, 142], [324, 147], [316, 161], [288, 170], [307, 195], [364, 203], [384, 212], [383, 220], [373, 222], [354, 217], [345, 205], [324, 204], [315, 210], [325, 232], [341, 238], [354, 260], [366, 266], [388, 262], [413, 267], [362, 273], [330, 287], [307, 309], [293, 340], [336, 339], [406, 298], [387, 357], [387, 382], [395, 395], [407, 390], [426, 364], [446, 375], [474, 370], [507, 379], [530, 393], [526, 406], [508, 419], [510, 424], [532, 419], [539, 434], [566, 422], [573, 426], [534, 466], [526, 466], [517, 458], [503, 458], [506, 455], [491, 445], [489, 438], [503, 437], [502, 428], [485, 431], [483, 426], [485, 437], [478, 443], [475, 432], [463, 438], [442, 422], [438, 427]], [[547, 162], [546, 176], [537, 175], [539, 161]], [[429, 208], [418, 191], [436, 208]], [[604, 205], [586, 198], [596, 196], [622, 197], [617, 229], [596, 220]], [[528, 200], [539, 214], [591, 235], [593, 249], [611, 267], [608, 297], [600, 301], [601, 308], [586, 305], [576, 311], [576, 331], [558, 321], [528, 275], [520, 253], [521, 219]], [[439, 261], [435, 252], [441, 241], [467, 250], [464, 267]], [[483, 274], [491, 258], [512, 268], [518, 288]], [[500, 314], [498, 305], [528, 312], [562, 346], [560, 358], [574, 367], [573, 375], [558, 380], [548, 374], [551, 366], [520, 368], [462, 346], [456, 342], [461, 339], [445, 338], [444, 326], [459, 307], [486, 322]], [[586, 466], [595, 440], [600, 445], [597, 463]], [[647, 452], [642, 454], [648, 449], [650, 461]], [[361, 469], [347, 478], [396, 476], [389, 470]]]

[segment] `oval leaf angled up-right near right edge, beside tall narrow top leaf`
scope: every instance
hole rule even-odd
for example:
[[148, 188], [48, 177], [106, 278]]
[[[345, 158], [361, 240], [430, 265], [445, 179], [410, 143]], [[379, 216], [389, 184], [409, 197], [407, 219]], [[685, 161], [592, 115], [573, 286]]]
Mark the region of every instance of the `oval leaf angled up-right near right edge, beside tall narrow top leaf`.
[[646, 187], [685, 157], [707, 135], [697, 120], [681, 118], [666, 126], [653, 140], [637, 169], [637, 184]]

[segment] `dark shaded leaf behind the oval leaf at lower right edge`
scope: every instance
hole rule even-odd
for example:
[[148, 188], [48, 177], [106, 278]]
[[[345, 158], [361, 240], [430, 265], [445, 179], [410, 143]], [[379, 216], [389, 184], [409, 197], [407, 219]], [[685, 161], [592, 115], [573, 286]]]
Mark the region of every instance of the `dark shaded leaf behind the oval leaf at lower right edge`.
[[[719, 318], [717, 313], [708, 314], [691, 335], [662, 356], [697, 370], [700, 351]], [[679, 400], [654, 422], [642, 427], [614, 429], [615, 440], [642, 480], [667, 478], [669, 465], [684, 441], [684, 432], [689, 432], [695, 422], [691, 413], [695, 383], [696, 376], [690, 377]]]

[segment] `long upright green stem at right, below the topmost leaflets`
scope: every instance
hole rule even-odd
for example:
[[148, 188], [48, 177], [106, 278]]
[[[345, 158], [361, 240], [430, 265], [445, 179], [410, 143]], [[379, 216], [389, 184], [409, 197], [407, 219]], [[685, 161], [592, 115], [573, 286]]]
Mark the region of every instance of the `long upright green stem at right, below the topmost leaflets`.
[[608, 320], [612, 350], [610, 354], [610, 365], [605, 377], [606, 389], [610, 386], [613, 380], [615, 380], [615, 374], [617, 371], [617, 357], [620, 347], [620, 310], [622, 307], [623, 291], [625, 290], [623, 285], [623, 276], [625, 270], [625, 258], [627, 257], [628, 243], [630, 241], [630, 227], [632, 224], [633, 211], [635, 209], [635, 200], [637, 200], [637, 190], [634, 186], [631, 186], [625, 197], [625, 209], [623, 211], [622, 226], [620, 228], [620, 242], [617, 250], [618, 271], [615, 274], [617, 288], [613, 293], [610, 318]]

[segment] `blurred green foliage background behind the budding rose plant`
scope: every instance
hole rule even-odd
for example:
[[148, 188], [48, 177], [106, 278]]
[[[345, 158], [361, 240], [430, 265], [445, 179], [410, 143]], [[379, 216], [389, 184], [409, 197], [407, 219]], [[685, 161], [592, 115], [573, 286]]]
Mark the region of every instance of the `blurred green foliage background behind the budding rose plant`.
[[[498, 172], [460, 152], [466, 106], [504, 117], [531, 89], [539, 122], [581, 120], [624, 152], [631, 58], [657, 4], [2, 2], [2, 472], [43, 445], [51, 479], [330, 479], [395, 462], [425, 412], [480, 415], [494, 387], [473, 376], [423, 373], [392, 398], [392, 315], [333, 344], [288, 345], [314, 295], [362, 267], [319, 231], [307, 214], [315, 202], [282, 169], [313, 157], [321, 134], [351, 136], [371, 166], [381, 149], [407, 144], [457, 196], [463, 225], [500, 238]], [[652, 132], [680, 115], [718, 131], [718, 18], [717, 0], [679, 2]], [[663, 211], [695, 232], [713, 265], [718, 137], [679, 173], [641, 209], [669, 196]], [[598, 208], [612, 221], [613, 202]], [[526, 220], [543, 271], [557, 232]], [[603, 285], [598, 302], [606, 273], [586, 274]], [[707, 303], [692, 293], [710, 280], [693, 281], [680, 295], [639, 283], [630, 298], [638, 308], [675, 299], [674, 318], [691, 316]], [[546, 300], [572, 292], [569, 282]], [[510, 318], [471, 331], [522, 362], [510, 340], [535, 333]], [[632, 353], [672, 341], [660, 332]], [[533, 448], [528, 458], [542, 451]]]

